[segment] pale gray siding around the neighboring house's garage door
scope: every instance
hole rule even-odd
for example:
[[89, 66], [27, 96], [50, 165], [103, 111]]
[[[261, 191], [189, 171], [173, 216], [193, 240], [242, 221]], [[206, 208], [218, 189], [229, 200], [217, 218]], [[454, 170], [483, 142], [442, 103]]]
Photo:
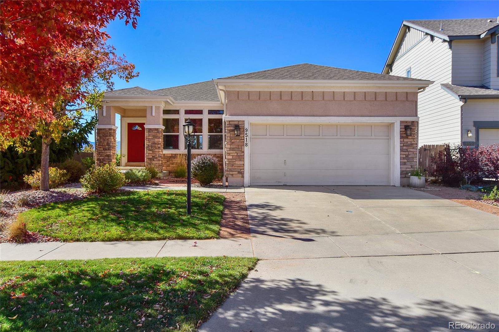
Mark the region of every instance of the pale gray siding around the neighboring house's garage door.
[[[497, 99], [468, 99], [463, 105], [463, 141], [476, 142], [477, 130], [474, 121], [499, 121], [499, 101]], [[471, 129], [473, 137], [468, 137]]]

